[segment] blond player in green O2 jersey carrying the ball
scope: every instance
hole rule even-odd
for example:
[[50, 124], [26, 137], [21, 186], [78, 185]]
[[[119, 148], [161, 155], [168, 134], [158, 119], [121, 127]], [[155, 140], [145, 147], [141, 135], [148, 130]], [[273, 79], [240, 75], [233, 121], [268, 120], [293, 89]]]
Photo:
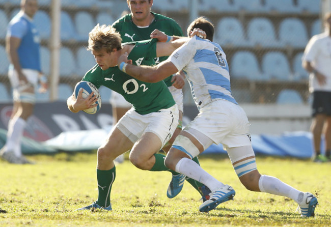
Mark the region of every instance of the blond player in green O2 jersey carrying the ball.
[[[177, 127], [177, 104], [163, 81], [142, 82], [117, 67], [118, 57], [124, 52], [129, 54], [135, 65], [154, 65], [158, 52], [168, 53], [163, 48], [163, 43], [153, 45], [156, 41], [152, 39], [122, 46], [121, 37], [113, 27], [99, 24], [89, 34], [88, 50], [92, 51], [97, 65], [85, 74], [83, 80], [92, 82], [97, 88], [105, 86], [118, 92], [133, 107], [121, 118], [98, 149], [98, 200], [79, 210], [112, 210], [110, 193], [116, 177], [114, 160], [126, 151], [131, 150], [130, 161], [140, 169], [169, 171], [164, 165], [165, 156], [157, 152], [167, 143]], [[185, 39], [179, 39], [172, 44], [179, 47], [184, 42]], [[95, 101], [93, 93], [82, 98], [81, 90], [77, 99], [72, 95], [67, 104], [70, 111], [78, 112], [93, 107]], [[178, 175], [174, 171], [171, 173]]]

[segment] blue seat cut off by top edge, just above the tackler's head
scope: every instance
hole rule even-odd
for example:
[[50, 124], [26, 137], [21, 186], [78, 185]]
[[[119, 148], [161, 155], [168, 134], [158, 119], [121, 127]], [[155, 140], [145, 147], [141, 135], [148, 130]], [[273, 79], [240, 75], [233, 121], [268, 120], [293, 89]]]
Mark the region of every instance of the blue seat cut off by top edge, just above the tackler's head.
[[199, 11], [235, 12], [237, 9], [229, 0], [201, 0], [198, 6]]

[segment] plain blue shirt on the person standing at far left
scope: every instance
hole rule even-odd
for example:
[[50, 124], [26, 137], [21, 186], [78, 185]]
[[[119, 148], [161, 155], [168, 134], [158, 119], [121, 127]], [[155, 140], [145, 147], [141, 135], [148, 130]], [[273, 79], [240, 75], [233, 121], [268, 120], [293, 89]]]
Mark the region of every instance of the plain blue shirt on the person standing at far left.
[[7, 36], [21, 39], [17, 50], [21, 68], [41, 71], [40, 38], [32, 19], [23, 12], [19, 12], [9, 22]]

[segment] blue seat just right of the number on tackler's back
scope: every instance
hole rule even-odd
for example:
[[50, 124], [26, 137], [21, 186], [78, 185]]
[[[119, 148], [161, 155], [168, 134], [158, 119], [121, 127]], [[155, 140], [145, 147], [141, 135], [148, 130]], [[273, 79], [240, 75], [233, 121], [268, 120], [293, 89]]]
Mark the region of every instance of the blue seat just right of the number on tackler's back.
[[230, 76], [249, 80], [263, 80], [259, 63], [250, 51], [237, 51], [231, 61]]

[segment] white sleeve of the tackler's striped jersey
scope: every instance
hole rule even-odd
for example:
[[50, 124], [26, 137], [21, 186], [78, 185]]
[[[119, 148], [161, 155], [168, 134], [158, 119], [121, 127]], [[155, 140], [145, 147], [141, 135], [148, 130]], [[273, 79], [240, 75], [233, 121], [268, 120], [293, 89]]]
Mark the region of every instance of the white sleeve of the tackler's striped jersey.
[[195, 39], [191, 38], [169, 56], [169, 61], [180, 71], [194, 58], [196, 51]]

